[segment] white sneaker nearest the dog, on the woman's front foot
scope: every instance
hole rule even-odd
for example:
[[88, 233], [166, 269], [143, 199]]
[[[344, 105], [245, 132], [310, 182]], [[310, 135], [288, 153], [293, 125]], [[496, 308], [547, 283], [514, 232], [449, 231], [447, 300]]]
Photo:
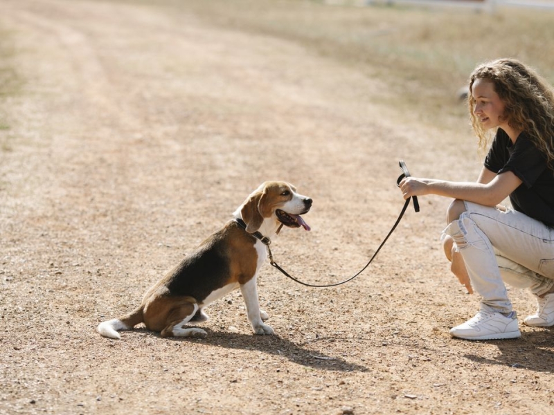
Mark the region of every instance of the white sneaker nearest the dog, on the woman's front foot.
[[521, 336], [515, 311], [505, 317], [501, 313], [483, 310], [464, 324], [450, 329], [450, 334], [465, 340], [515, 339]]

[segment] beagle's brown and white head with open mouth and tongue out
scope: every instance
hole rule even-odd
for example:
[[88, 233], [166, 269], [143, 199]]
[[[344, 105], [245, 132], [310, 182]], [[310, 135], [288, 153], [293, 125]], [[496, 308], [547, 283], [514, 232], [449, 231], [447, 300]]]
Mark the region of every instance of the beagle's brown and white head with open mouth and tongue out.
[[[312, 199], [296, 193], [296, 187], [283, 181], [267, 181], [254, 190], [239, 208], [247, 232], [256, 232], [265, 222], [268, 232], [276, 232], [280, 223], [289, 228], [310, 230], [301, 218], [312, 207]], [[263, 233], [263, 232], [262, 232]]]

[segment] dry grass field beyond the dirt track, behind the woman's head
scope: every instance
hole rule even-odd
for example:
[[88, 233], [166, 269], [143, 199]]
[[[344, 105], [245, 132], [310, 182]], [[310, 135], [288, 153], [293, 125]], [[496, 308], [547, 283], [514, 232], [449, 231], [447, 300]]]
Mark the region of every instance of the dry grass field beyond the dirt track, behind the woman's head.
[[517, 57], [554, 81], [554, 54], [545, 53], [554, 50], [554, 12], [544, 10], [500, 8], [491, 15], [298, 0], [190, 0], [186, 8], [213, 25], [292, 40], [308, 53], [355, 66], [390, 92], [375, 100], [402, 112], [418, 108], [418, 117], [443, 126], [466, 116], [456, 91], [479, 62]]

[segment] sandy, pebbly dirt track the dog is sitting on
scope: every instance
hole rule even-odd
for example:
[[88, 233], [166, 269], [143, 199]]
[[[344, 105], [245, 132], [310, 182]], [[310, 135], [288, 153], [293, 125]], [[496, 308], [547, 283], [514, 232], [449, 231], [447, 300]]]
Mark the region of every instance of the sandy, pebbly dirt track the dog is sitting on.
[[[276, 261], [332, 283], [400, 212], [398, 160], [470, 180], [474, 141], [379, 107], [384, 84], [355, 68], [185, 6], [1, 8], [23, 85], [0, 97], [0, 414], [551, 413], [550, 330], [450, 338], [479, 299], [448, 273], [435, 197], [349, 284], [306, 288], [266, 264], [276, 335], [251, 333], [235, 292], [208, 309], [206, 339], [101, 338], [98, 322], [136, 306], [262, 181], [314, 199], [312, 231], [282, 232]], [[535, 310], [510, 293], [519, 315]]]

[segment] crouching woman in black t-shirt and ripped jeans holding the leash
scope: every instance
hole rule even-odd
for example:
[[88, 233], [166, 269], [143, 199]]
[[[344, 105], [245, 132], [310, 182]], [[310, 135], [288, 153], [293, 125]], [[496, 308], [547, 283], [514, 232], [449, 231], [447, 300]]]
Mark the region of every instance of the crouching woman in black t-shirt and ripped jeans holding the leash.
[[[443, 232], [451, 270], [482, 297], [472, 319], [450, 330], [467, 340], [518, 338], [504, 282], [529, 288], [537, 312], [529, 326], [554, 325], [554, 92], [515, 59], [477, 66], [468, 106], [479, 147], [494, 140], [476, 183], [407, 177], [404, 199], [438, 194], [455, 200]], [[499, 205], [510, 196], [512, 208]]]

